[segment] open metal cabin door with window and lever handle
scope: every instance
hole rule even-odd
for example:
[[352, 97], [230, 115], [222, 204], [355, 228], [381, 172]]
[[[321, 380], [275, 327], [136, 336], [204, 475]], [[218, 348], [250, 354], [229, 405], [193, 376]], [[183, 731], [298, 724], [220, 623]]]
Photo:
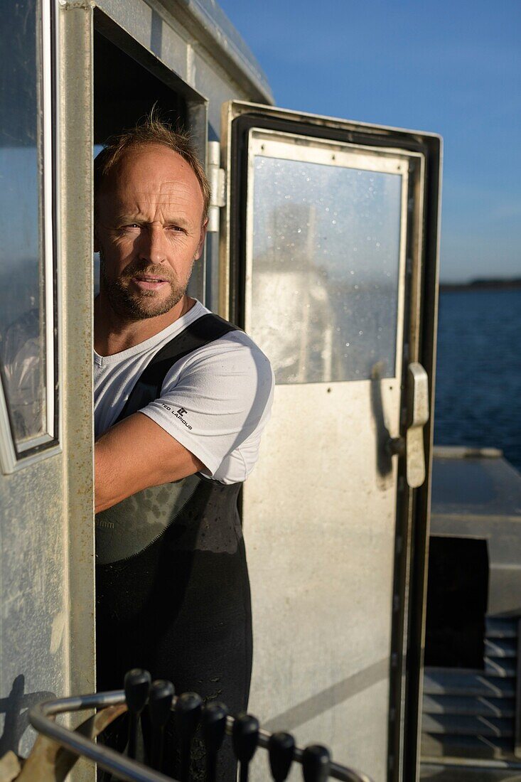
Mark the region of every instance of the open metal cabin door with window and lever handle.
[[419, 697], [440, 139], [238, 102], [223, 135], [222, 309], [276, 379], [243, 490], [250, 708], [384, 780]]

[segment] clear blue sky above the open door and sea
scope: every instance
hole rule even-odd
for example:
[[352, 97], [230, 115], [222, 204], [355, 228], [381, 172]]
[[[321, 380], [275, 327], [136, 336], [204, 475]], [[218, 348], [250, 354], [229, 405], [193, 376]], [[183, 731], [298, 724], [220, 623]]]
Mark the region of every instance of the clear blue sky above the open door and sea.
[[219, 0], [278, 106], [444, 137], [440, 276], [521, 276], [521, 0]]

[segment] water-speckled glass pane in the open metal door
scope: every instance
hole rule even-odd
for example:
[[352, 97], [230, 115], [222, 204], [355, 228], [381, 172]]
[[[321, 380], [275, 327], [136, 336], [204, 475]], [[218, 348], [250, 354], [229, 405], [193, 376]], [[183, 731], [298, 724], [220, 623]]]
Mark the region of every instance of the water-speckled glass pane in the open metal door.
[[256, 156], [250, 332], [278, 383], [393, 377], [401, 176]]

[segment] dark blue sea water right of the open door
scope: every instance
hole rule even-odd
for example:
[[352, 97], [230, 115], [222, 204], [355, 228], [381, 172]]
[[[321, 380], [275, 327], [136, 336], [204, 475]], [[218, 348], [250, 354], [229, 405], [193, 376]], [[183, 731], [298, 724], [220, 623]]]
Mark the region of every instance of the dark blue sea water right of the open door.
[[434, 443], [501, 448], [521, 471], [521, 289], [440, 293]]

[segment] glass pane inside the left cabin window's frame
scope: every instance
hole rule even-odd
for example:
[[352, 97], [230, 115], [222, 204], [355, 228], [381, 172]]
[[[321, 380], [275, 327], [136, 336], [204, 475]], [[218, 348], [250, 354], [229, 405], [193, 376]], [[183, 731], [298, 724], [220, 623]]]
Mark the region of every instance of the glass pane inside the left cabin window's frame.
[[0, 359], [17, 445], [45, 432], [40, 7], [2, 9]]

